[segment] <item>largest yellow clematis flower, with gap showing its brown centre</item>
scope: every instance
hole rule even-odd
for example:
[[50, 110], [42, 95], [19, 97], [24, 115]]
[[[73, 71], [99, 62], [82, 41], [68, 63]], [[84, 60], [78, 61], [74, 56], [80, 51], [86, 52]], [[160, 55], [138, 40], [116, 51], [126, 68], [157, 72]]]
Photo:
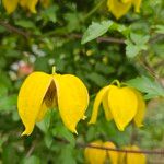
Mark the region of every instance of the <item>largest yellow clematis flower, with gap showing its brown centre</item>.
[[35, 122], [52, 107], [59, 108], [65, 126], [77, 133], [77, 124], [85, 118], [87, 104], [87, 90], [75, 75], [33, 72], [22, 84], [17, 98], [19, 115], [25, 126], [22, 136], [30, 136]]

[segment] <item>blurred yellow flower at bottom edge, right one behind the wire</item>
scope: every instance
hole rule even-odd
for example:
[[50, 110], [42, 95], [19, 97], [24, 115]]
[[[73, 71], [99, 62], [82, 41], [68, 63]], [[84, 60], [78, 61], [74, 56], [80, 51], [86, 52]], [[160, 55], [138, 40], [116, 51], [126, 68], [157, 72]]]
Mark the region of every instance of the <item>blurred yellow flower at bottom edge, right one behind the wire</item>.
[[[137, 145], [125, 147], [124, 150], [140, 151]], [[118, 161], [121, 164], [147, 164], [145, 154], [142, 153], [119, 153]]]

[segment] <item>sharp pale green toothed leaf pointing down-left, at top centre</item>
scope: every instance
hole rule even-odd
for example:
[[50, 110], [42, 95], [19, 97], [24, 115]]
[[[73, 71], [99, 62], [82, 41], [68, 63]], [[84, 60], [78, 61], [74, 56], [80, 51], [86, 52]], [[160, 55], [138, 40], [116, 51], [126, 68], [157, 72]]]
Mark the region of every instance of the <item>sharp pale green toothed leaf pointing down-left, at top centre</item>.
[[103, 21], [101, 23], [92, 22], [86, 32], [84, 33], [81, 44], [85, 44], [105, 34], [113, 25], [113, 21]]

